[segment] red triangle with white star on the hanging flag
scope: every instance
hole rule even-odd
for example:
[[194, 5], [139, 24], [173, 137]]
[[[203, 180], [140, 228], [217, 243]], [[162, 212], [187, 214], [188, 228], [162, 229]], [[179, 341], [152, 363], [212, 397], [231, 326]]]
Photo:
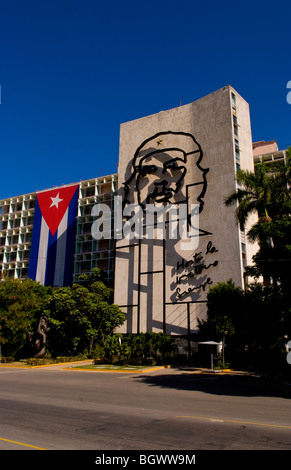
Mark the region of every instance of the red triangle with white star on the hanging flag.
[[42, 216], [52, 236], [56, 233], [77, 188], [78, 185], [66, 186], [37, 194]]

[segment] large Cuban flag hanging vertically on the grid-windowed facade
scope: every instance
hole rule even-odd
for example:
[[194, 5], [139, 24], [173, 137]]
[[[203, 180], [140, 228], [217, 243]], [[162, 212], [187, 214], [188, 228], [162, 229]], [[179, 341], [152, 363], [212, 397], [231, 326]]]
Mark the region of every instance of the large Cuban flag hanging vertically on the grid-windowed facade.
[[79, 185], [36, 194], [28, 277], [44, 286], [72, 281]]

